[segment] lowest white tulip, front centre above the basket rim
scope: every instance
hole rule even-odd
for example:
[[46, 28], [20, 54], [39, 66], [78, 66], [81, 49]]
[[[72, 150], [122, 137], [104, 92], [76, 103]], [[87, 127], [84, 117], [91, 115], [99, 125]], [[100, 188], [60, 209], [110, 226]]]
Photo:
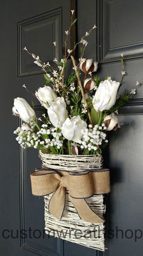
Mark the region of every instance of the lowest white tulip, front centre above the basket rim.
[[62, 126], [62, 135], [67, 140], [75, 141], [79, 143], [82, 138], [82, 129], [87, 128], [87, 123], [83, 121], [80, 116], [73, 116], [73, 118], [67, 118]]

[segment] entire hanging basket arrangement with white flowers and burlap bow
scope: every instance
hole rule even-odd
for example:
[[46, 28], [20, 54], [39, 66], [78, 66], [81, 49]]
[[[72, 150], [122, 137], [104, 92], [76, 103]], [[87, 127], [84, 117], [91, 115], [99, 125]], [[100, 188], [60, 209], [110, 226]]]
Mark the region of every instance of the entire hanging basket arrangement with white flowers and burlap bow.
[[[33, 171], [30, 179], [32, 194], [44, 196], [45, 233], [51, 235], [53, 230], [52, 235], [57, 237], [56, 232], [64, 230], [68, 234], [74, 228], [75, 232], [81, 231], [80, 239], [74, 234], [65, 237], [64, 233], [60, 238], [105, 251], [104, 194], [110, 192], [110, 170], [102, 169], [102, 148], [108, 143], [108, 132], [120, 127], [119, 108], [136, 93], [140, 82], [131, 91], [120, 93], [126, 75], [122, 54], [120, 82], [111, 76], [102, 81], [96, 75], [98, 63], [84, 58], [87, 38], [96, 26], [68, 49], [68, 37], [76, 23], [74, 16], [71, 10], [64, 55], [61, 60], [53, 60], [56, 68], [55, 63], [42, 62], [24, 48], [45, 73], [45, 85], [32, 92], [41, 103], [42, 113], [36, 117], [34, 106], [23, 98], [14, 99], [13, 114], [22, 120], [14, 133], [22, 148], [39, 150], [42, 169]], [[53, 45], [56, 48], [56, 41]], [[78, 46], [79, 60], [75, 58]], [[70, 75], [69, 59], [73, 65]], [[90, 240], [87, 230], [93, 233]]]

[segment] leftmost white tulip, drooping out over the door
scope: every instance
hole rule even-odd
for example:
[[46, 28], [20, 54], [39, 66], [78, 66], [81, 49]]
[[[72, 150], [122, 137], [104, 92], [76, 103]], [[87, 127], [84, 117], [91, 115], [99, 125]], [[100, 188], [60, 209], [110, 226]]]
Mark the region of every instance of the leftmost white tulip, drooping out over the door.
[[29, 123], [36, 118], [35, 111], [23, 98], [16, 98], [14, 100], [13, 112], [25, 122]]

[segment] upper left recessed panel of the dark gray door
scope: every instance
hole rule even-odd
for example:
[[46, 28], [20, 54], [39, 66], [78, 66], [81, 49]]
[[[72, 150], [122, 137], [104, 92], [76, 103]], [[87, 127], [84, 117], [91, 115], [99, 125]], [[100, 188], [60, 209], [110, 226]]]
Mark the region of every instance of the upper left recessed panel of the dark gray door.
[[[69, 10], [67, 12], [69, 18]], [[56, 41], [56, 48], [53, 41]], [[18, 23], [18, 44], [19, 77], [42, 73], [41, 69], [33, 63], [32, 57], [23, 51], [25, 46], [29, 51], [39, 54], [43, 62], [51, 63], [55, 57], [61, 59], [62, 7], [20, 21]]]

